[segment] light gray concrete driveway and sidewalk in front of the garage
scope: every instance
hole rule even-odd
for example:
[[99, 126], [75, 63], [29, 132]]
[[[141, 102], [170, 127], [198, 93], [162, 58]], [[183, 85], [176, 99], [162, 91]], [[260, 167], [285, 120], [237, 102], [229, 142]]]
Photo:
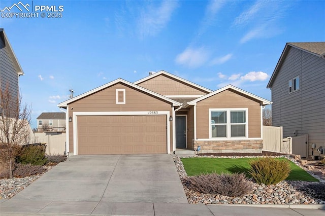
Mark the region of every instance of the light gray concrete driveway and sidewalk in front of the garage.
[[171, 155], [96, 155], [58, 164], [1, 200], [0, 215], [325, 215], [325, 205], [274, 207], [188, 204]]

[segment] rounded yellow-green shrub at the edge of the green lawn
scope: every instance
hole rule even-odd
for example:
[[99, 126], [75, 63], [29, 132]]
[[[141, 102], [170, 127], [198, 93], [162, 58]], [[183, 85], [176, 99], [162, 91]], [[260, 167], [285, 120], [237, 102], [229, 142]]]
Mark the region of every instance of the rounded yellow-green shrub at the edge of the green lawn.
[[259, 158], [249, 162], [251, 169], [249, 174], [257, 184], [275, 185], [289, 176], [291, 171], [287, 160], [275, 158]]

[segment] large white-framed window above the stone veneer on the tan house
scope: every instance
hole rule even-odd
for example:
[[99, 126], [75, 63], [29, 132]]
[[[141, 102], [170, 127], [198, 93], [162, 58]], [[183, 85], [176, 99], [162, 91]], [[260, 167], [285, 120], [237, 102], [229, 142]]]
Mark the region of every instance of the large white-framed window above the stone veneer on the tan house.
[[248, 109], [209, 109], [210, 138], [247, 137]]

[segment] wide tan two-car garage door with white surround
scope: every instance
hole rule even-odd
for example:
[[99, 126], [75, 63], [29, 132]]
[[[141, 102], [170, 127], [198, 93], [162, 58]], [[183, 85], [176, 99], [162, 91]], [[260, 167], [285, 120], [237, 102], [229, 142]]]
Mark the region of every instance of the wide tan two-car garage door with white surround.
[[166, 154], [166, 115], [77, 116], [77, 154]]

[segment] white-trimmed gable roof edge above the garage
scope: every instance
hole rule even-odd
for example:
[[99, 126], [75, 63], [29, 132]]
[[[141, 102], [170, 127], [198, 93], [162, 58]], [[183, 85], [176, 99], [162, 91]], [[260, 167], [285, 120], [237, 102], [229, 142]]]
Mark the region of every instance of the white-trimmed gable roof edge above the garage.
[[72, 102], [74, 102], [74, 101], [76, 101], [76, 100], [79, 100], [79, 99], [81, 99], [81, 98], [83, 98], [83, 97], [86, 97], [86, 96], [88, 96], [88, 95], [91, 95], [91, 94], [93, 94], [93, 93], [95, 93], [95, 92], [99, 92], [99, 91], [101, 91], [101, 90], [103, 90], [103, 89], [106, 89], [106, 88], [108, 88], [108, 87], [110, 87], [110, 86], [113, 86], [113, 85], [115, 85], [115, 84], [117, 84], [117, 83], [123, 83], [123, 84], [125, 84], [125, 85], [127, 85], [127, 86], [129, 86], [129, 87], [132, 87], [132, 88], [138, 89], [138, 90], [140, 90], [140, 91], [142, 91], [142, 92], [146, 92], [146, 93], [148, 93], [148, 94], [150, 94], [150, 95], [152, 95], [152, 96], [155, 96], [155, 97], [158, 97], [158, 98], [163, 99], [163, 100], [165, 100], [165, 101], [168, 101], [168, 102], [172, 103], [172, 104], [175, 105], [175, 106], [179, 106], [179, 105], [181, 105], [179, 102], [177, 102], [177, 101], [175, 101], [175, 100], [172, 100], [172, 99], [170, 99], [170, 98], [168, 98], [168, 97], [165, 97], [165, 96], [163, 96], [163, 95], [161, 95], [161, 94], [155, 93], [155, 92], [153, 92], [153, 91], [150, 91], [150, 90], [145, 89], [145, 88], [143, 88], [143, 87], [141, 87], [141, 86], [138, 86], [138, 85], [136, 85], [136, 84], [130, 83], [130, 82], [126, 81], [126, 80], [123, 80], [123, 79], [119, 78], [119, 79], [116, 79], [116, 80], [114, 80], [114, 81], [112, 81], [112, 82], [110, 82], [110, 83], [107, 83], [107, 84], [105, 84], [105, 85], [102, 85], [102, 86], [100, 86], [100, 87], [98, 87], [98, 88], [92, 89], [92, 90], [87, 91], [87, 92], [85, 92], [85, 93], [83, 93], [83, 94], [80, 94], [80, 95], [78, 95], [78, 96], [76, 96], [76, 97], [73, 97], [73, 98], [71, 98], [71, 99], [69, 99], [69, 100], [63, 101], [63, 102], [59, 103], [58, 106], [59, 106], [59, 107], [63, 107], [63, 108], [67, 108], [67, 106], [68, 106], [69, 103], [72, 103]]

